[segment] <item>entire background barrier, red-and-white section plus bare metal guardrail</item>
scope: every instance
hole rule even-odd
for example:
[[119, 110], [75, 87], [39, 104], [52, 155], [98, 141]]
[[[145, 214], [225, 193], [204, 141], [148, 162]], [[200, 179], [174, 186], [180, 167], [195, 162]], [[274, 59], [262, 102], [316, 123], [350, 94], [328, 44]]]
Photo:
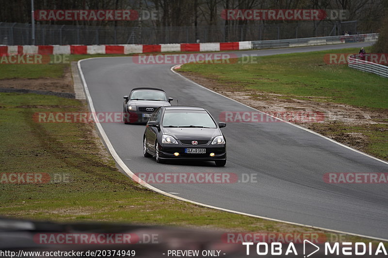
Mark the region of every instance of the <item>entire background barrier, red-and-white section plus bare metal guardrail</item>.
[[290, 48], [350, 42], [372, 42], [378, 33], [349, 36], [297, 38], [225, 43], [159, 44], [159, 45], [50, 45], [50, 46], [0, 46], [0, 55], [10, 54], [140, 54], [151, 52], [226, 51], [253, 48]]

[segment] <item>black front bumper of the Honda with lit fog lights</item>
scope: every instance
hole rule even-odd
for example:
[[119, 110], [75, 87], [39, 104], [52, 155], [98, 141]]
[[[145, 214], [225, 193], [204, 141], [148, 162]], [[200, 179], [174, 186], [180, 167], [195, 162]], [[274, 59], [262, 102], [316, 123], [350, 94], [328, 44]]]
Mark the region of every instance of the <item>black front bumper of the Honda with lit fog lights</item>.
[[[185, 153], [185, 148], [206, 149], [206, 153]], [[179, 153], [179, 156], [174, 155], [176, 152]], [[211, 157], [210, 153], [214, 153], [214, 156]], [[159, 144], [159, 158], [163, 160], [226, 160], [226, 144], [211, 145], [211, 141], [208, 145], [183, 145], [179, 142], [176, 145]]]

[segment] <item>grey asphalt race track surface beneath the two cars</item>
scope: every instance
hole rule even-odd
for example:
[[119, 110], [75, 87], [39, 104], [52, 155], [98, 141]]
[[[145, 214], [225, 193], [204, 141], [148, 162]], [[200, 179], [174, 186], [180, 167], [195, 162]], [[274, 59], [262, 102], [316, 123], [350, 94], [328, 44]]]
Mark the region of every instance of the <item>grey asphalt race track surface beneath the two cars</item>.
[[[273, 55], [367, 46], [366, 43], [237, 51]], [[179, 105], [201, 106], [218, 120], [225, 111], [252, 109], [204, 89], [170, 70], [169, 64], [134, 64], [131, 57], [94, 58], [81, 63], [96, 112], [122, 112], [123, 96], [139, 86], [161, 87]], [[366, 85], [367, 86], [367, 85]], [[175, 100], [174, 100], [175, 102]], [[176, 102], [175, 102], [176, 103]], [[257, 174], [257, 182], [152, 184], [176, 196], [228, 210], [292, 223], [388, 239], [387, 184], [327, 184], [328, 172], [387, 173], [372, 159], [287, 123], [228, 123], [227, 163], [168, 162], [144, 158], [144, 125], [102, 123], [114, 150], [133, 173], [222, 172]]]

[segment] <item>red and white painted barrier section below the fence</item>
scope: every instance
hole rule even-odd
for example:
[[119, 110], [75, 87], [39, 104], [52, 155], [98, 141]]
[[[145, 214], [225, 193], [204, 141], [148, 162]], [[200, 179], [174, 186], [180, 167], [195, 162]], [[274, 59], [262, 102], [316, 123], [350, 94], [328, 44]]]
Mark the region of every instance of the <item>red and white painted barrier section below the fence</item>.
[[1, 55], [15, 54], [136, 54], [153, 52], [200, 52], [251, 49], [250, 41], [225, 43], [159, 44], [159, 45], [49, 45], [0, 46]]

